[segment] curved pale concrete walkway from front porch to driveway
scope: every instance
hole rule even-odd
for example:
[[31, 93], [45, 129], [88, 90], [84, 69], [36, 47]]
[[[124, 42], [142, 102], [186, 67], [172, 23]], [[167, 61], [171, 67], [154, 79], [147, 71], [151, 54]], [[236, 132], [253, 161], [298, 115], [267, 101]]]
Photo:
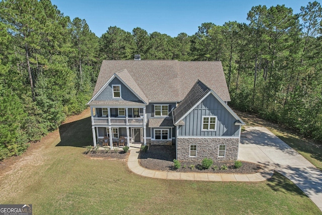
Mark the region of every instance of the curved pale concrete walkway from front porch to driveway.
[[255, 174], [221, 174], [221, 173], [180, 173], [149, 170], [141, 167], [138, 162], [138, 149], [131, 150], [127, 160], [129, 169], [141, 176], [172, 180], [194, 180], [194, 181], [265, 181], [272, 177], [275, 166], [265, 166]]

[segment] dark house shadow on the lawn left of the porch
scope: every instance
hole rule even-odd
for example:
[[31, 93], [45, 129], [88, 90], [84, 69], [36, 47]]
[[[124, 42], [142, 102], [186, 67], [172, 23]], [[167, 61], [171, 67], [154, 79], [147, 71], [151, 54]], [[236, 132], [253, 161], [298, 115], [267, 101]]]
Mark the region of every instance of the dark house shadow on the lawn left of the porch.
[[86, 147], [93, 145], [91, 117], [59, 126], [60, 142], [56, 147]]

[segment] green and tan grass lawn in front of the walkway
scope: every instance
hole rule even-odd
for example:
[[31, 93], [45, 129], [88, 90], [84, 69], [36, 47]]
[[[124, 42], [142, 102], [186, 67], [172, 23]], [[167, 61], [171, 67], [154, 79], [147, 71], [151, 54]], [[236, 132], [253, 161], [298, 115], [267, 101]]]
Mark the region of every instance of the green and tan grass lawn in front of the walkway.
[[146, 178], [125, 161], [90, 159], [88, 111], [45, 137], [0, 173], [0, 203], [33, 204], [33, 214], [321, 214], [290, 180], [203, 182]]

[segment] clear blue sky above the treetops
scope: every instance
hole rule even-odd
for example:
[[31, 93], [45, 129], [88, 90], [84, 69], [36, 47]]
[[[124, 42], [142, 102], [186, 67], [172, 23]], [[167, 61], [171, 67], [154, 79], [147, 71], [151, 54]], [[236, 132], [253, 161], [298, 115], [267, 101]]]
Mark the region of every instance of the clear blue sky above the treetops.
[[[314, 0], [313, 0], [314, 1]], [[85, 19], [92, 32], [101, 37], [110, 26], [132, 32], [136, 27], [172, 37], [185, 32], [193, 35], [202, 23], [223, 25], [228, 21], [248, 23], [253, 6], [268, 8], [285, 5], [299, 13], [312, 0], [52, 0], [60, 12]]]

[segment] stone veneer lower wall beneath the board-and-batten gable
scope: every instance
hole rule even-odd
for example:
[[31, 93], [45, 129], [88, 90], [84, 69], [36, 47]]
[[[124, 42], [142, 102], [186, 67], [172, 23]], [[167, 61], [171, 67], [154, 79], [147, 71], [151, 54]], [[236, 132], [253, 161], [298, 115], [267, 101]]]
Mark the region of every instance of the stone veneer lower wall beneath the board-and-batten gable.
[[[238, 158], [239, 138], [178, 138], [177, 159], [185, 162], [202, 161], [211, 158], [213, 161], [235, 161]], [[197, 145], [197, 157], [189, 157], [190, 145]], [[226, 145], [225, 157], [218, 158], [219, 145]]]

